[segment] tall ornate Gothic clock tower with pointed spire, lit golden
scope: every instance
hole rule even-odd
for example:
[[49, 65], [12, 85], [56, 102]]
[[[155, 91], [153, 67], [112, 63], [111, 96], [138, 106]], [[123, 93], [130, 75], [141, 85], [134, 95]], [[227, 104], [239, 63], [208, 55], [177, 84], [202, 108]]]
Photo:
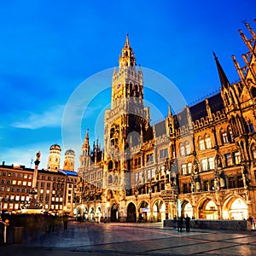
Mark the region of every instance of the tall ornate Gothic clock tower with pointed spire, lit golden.
[[143, 133], [150, 122], [149, 108], [143, 103], [143, 72], [126, 35], [125, 47], [114, 67], [111, 109], [105, 112], [103, 188], [106, 200], [117, 204], [131, 189], [132, 148], [140, 149]]

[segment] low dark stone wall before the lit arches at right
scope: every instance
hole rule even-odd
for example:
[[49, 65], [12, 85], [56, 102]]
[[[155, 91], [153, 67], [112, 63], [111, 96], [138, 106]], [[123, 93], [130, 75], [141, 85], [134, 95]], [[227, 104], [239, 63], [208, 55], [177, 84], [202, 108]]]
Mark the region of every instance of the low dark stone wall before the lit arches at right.
[[[164, 220], [165, 227], [175, 227], [173, 219]], [[183, 221], [183, 227], [185, 228], [185, 222]], [[208, 220], [208, 219], [191, 219], [191, 229], [202, 230], [251, 230], [251, 225], [247, 220]]]

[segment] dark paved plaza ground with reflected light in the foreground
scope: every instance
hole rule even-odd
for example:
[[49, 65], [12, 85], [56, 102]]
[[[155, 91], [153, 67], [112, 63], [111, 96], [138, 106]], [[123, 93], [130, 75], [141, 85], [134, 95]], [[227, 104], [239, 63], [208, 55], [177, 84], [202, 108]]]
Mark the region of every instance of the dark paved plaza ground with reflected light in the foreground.
[[67, 230], [0, 247], [4, 256], [79, 255], [256, 255], [256, 231], [190, 230], [163, 224], [69, 222]]

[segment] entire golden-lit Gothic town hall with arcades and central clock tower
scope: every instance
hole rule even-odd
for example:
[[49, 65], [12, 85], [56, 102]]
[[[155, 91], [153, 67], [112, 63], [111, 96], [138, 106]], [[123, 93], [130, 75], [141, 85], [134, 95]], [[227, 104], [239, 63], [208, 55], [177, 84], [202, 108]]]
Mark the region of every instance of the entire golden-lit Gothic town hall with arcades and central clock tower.
[[[126, 37], [113, 70], [104, 150], [80, 155], [75, 214], [94, 220], [160, 221], [174, 215], [243, 219], [256, 216], [256, 34], [239, 30], [248, 52], [240, 81], [230, 84], [214, 54], [218, 94], [150, 125], [143, 102], [143, 70]], [[170, 102], [172, 104], [172, 102]], [[166, 106], [168, 108], [168, 106]]]

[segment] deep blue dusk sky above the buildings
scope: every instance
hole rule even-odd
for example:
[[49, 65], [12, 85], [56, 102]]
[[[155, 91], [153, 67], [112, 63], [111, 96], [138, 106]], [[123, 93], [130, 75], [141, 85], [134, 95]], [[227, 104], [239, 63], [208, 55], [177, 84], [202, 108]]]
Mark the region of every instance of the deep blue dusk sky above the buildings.
[[[111, 73], [118, 66], [126, 33], [137, 64], [170, 79], [190, 104], [219, 88], [213, 50], [230, 82], [238, 80], [231, 55], [244, 66], [241, 54], [247, 49], [237, 31], [241, 28], [250, 38], [243, 20], [256, 27], [253, 0], [14, 0], [2, 1], [0, 7], [0, 160], [30, 166], [30, 159], [41, 150], [42, 168], [53, 143], [63, 148], [62, 162], [64, 151], [75, 149], [79, 166], [87, 127], [90, 143], [97, 137], [103, 143]], [[102, 72], [109, 73], [109, 79], [100, 76], [94, 85], [87, 85], [90, 93], [84, 85], [80, 100], [86, 108], [76, 108], [66, 117], [69, 140], [63, 142], [67, 103], [79, 84]], [[97, 87], [101, 83], [104, 90]], [[144, 98], [157, 110], [154, 119], [161, 119], [166, 104], [156, 103], [150, 90], [145, 90]]]

